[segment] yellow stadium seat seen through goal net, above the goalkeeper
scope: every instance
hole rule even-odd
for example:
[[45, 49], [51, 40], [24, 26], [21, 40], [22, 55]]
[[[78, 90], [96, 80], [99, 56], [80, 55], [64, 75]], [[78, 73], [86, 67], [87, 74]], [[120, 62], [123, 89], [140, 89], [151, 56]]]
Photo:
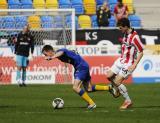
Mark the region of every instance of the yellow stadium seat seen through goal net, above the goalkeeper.
[[29, 16], [28, 17], [28, 24], [31, 29], [39, 29], [41, 28], [41, 20], [39, 16]]

